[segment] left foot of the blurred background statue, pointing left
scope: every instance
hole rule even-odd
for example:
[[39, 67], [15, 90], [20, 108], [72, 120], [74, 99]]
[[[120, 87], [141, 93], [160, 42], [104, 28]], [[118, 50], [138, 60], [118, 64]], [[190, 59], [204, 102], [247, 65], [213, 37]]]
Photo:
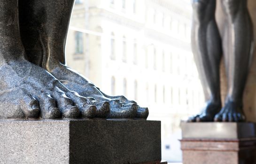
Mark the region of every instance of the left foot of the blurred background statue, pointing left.
[[214, 116], [220, 111], [221, 103], [207, 102], [205, 108], [198, 115], [190, 117], [188, 122], [212, 122]]

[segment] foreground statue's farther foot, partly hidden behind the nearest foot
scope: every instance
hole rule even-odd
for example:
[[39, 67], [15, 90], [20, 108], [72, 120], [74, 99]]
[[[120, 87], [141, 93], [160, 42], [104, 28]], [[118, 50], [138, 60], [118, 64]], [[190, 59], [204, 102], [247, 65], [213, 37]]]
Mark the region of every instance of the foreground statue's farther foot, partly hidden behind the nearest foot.
[[79, 95], [85, 97], [93, 97], [98, 102], [109, 102], [110, 113], [107, 118], [143, 118], [147, 119], [148, 109], [141, 108], [134, 101], [129, 101], [125, 97], [106, 97], [106, 95], [95, 85], [80, 75], [76, 71], [66, 67], [60, 63], [51, 63], [53, 69], [48, 71], [60, 80], [67, 88], [78, 92]]

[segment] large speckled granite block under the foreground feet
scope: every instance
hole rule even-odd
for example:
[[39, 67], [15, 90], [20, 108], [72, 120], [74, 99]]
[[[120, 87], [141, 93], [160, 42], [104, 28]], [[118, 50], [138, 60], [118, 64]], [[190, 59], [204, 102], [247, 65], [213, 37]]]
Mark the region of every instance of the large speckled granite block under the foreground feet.
[[0, 121], [0, 163], [134, 164], [148, 161], [161, 161], [160, 121]]

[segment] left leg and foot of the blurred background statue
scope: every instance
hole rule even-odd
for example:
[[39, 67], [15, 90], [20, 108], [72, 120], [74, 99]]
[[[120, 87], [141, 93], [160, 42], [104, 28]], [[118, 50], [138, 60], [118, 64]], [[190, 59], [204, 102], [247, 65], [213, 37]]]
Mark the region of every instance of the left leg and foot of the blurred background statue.
[[192, 51], [202, 82], [206, 106], [189, 121], [213, 121], [221, 109], [219, 65], [221, 39], [215, 20], [216, 0], [193, 0]]

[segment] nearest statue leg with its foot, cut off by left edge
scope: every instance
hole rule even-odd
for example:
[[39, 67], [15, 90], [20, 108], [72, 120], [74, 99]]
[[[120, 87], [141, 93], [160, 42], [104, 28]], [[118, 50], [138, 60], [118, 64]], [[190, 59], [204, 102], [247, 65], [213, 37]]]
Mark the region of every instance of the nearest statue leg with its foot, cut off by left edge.
[[0, 119], [93, 117], [96, 107], [85, 97], [26, 60], [17, 3], [0, 0]]

